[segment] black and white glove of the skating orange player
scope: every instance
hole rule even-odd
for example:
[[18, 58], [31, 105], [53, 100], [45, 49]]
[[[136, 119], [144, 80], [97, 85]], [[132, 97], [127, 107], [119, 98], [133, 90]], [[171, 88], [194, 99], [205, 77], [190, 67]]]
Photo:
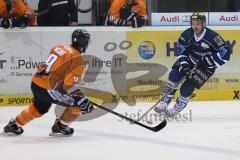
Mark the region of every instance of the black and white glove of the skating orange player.
[[94, 107], [86, 96], [73, 96], [74, 105], [78, 106], [83, 114], [90, 113]]

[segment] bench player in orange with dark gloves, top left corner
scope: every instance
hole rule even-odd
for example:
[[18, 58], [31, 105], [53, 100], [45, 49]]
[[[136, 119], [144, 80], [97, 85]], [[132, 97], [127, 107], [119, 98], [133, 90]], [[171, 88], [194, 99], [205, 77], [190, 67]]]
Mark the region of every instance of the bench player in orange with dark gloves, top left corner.
[[0, 27], [25, 28], [36, 25], [36, 15], [22, 0], [0, 0]]

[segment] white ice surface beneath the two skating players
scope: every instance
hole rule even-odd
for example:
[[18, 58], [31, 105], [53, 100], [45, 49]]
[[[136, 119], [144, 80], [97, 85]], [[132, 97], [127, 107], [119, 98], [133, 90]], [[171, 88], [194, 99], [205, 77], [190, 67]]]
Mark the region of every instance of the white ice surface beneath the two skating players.
[[[147, 110], [152, 104], [138, 105]], [[121, 105], [115, 111], [121, 108], [134, 110]], [[22, 109], [0, 107], [0, 129]], [[51, 109], [25, 126], [23, 135], [0, 135], [0, 160], [239, 160], [240, 101], [191, 102], [185, 112], [190, 110], [191, 120], [171, 121], [156, 133], [107, 114], [73, 123], [72, 137], [55, 138], [48, 136]]]

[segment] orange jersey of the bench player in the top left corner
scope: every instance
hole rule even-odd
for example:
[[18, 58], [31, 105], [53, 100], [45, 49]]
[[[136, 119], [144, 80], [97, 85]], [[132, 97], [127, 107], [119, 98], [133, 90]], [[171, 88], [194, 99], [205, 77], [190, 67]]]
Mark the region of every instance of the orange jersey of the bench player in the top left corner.
[[0, 17], [4, 19], [10, 19], [11, 15], [22, 17], [25, 14], [30, 15], [30, 25], [36, 25], [37, 18], [34, 10], [25, 5], [22, 0], [14, 0], [10, 11], [7, 10], [5, 0], [0, 0]]

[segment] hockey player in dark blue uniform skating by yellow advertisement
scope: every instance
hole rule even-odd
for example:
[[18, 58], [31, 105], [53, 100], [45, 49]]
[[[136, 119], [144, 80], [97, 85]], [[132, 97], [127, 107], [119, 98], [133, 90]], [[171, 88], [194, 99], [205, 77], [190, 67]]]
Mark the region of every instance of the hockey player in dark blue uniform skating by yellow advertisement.
[[[165, 83], [163, 97], [154, 108], [156, 112], [165, 112], [169, 117], [182, 111], [193, 91], [200, 89], [215, 70], [230, 59], [231, 49], [218, 33], [206, 27], [203, 13], [193, 13], [190, 23], [191, 27], [178, 40], [178, 59]], [[182, 81], [175, 105], [169, 105]]]

